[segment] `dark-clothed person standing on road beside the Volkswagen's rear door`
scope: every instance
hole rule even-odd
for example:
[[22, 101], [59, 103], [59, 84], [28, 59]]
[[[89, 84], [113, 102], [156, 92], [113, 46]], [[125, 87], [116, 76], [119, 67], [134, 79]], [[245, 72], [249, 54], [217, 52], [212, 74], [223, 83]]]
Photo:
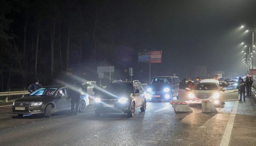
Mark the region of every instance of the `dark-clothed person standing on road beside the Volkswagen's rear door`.
[[[76, 85], [68, 86], [68, 98], [71, 98], [71, 115], [78, 115], [78, 109], [80, 104], [80, 88], [82, 84], [78, 82]], [[76, 110], [75, 110], [76, 109]], [[75, 110], [75, 112], [74, 112]]]

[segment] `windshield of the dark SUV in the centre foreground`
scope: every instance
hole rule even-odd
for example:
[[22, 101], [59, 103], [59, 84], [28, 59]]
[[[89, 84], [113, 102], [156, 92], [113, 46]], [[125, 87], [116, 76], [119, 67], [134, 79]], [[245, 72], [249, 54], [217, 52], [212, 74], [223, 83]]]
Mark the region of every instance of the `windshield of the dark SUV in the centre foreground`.
[[106, 91], [109, 93], [132, 93], [132, 83], [115, 82], [109, 84]]

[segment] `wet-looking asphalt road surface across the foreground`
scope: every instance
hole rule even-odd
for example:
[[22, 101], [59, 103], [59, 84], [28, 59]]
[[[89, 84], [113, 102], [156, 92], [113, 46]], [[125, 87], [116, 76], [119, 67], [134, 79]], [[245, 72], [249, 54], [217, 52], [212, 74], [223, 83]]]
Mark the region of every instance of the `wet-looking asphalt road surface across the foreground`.
[[226, 102], [218, 113], [202, 113], [193, 105], [192, 113], [176, 114], [170, 103], [147, 103], [146, 112], [136, 109], [133, 118], [96, 117], [94, 111], [18, 118], [6, 106], [0, 107], [0, 146], [219, 146], [226, 138], [230, 146], [255, 146], [255, 108], [246, 98]]

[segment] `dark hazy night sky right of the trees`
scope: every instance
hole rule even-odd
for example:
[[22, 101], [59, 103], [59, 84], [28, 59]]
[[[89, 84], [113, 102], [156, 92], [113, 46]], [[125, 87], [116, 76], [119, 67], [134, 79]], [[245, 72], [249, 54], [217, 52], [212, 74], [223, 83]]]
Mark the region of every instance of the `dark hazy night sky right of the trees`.
[[256, 27], [255, 0], [144, 0], [122, 5], [134, 12], [128, 20], [140, 25], [138, 47], [163, 50], [164, 62], [175, 52], [183, 58], [179, 66], [246, 73], [239, 44], [251, 44], [252, 35], [243, 35], [245, 28], [238, 27]]

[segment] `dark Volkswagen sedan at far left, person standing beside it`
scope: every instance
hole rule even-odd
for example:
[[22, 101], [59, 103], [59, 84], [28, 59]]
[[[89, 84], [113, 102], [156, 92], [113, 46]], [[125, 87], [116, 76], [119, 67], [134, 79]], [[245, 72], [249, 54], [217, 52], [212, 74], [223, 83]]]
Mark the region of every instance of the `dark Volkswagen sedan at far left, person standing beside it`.
[[[79, 111], [85, 111], [89, 105], [88, 94], [80, 90]], [[49, 118], [52, 113], [67, 111], [71, 108], [71, 99], [68, 98], [67, 86], [54, 85], [39, 88], [30, 95], [15, 100], [12, 113], [22, 117], [24, 114], [45, 114]]]

